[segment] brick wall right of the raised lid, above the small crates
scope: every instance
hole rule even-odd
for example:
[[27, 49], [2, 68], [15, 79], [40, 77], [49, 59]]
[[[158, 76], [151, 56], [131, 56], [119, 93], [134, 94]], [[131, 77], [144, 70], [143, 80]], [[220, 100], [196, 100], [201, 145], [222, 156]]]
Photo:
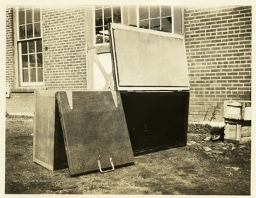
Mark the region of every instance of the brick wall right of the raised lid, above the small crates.
[[251, 21], [250, 6], [186, 7], [189, 121], [223, 121], [224, 100], [250, 100]]

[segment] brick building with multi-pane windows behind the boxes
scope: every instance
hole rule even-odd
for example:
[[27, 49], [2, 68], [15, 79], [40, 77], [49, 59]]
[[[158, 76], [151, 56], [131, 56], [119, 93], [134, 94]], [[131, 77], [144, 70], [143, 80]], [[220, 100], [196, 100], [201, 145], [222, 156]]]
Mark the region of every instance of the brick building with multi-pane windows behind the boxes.
[[97, 89], [92, 54], [110, 52], [108, 22], [184, 35], [189, 121], [223, 121], [223, 101], [250, 100], [251, 6], [7, 7], [6, 112], [33, 115], [36, 89]]

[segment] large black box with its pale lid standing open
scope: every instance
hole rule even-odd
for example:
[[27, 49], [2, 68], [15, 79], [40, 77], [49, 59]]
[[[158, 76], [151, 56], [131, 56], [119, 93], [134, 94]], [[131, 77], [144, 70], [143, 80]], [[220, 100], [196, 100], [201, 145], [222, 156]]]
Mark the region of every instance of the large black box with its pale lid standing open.
[[183, 35], [110, 23], [114, 87], [135, 155], [186, 145], [189, 81]]

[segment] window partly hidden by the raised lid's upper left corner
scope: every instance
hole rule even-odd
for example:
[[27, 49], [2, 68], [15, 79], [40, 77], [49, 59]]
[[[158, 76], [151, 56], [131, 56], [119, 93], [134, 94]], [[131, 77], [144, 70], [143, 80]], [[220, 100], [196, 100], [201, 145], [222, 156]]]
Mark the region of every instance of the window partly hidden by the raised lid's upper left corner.
[[107, 23], [122, 23], [121, 6], [95, 6], [95, 43], [109, 43]]

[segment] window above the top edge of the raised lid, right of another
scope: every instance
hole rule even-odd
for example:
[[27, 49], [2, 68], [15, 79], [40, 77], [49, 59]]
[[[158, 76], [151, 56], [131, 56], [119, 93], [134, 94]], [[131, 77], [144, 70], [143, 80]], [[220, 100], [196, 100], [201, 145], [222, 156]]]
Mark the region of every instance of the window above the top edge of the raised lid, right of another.
[[139, 27], [172, 32], [171, 6], [139, 6]]

